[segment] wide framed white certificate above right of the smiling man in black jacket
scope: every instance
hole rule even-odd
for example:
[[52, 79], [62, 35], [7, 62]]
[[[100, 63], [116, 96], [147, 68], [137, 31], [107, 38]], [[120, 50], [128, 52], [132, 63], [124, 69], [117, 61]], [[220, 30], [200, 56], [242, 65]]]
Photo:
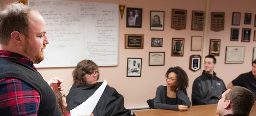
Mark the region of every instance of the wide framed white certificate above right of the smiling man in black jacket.
[[245, 46], [226, 46], [225, 64], [244, 63]]

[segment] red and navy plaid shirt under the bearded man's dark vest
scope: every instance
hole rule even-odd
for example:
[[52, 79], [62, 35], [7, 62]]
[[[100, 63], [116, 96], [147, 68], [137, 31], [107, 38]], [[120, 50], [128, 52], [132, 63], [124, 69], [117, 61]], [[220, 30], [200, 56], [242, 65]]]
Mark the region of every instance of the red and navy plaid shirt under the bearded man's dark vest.
[[[0, 50], [0, 57], [16, 59], [36, 70], [33, 62], [17, 53]], [[40, 105], [40, 95], [28, 83], [17, 78], [0, 80], [0, 115], [37, 116]]]

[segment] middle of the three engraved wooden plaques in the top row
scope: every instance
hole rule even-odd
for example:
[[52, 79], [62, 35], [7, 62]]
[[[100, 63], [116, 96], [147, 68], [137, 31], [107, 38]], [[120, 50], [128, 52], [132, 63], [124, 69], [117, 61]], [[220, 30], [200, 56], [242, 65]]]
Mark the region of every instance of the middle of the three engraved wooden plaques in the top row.
[[192, 11], [191, 30], [203, 31], [204, 11]]

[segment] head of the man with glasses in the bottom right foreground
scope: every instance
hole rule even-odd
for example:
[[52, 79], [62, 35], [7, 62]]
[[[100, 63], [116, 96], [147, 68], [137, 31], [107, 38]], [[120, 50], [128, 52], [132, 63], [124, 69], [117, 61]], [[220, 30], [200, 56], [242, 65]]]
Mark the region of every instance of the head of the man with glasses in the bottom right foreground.
[[249, 116], [255, 102], [254, 94], [244, 87], [232, 86], [219, 97], [219, 116]]

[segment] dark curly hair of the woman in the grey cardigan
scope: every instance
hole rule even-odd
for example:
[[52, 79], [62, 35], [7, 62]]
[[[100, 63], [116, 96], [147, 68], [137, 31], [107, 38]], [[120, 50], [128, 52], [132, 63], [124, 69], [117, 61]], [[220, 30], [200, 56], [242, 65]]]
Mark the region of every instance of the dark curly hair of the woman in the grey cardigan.
[[170, 67], [165, 76], [168, 77], [169, 73], [174, 72], [177, 76], [177, 84], [178, 88], [186, 91], [187, 86], [189, 86], [189, 78], [187, 77], [187, 73], [181, 69], [181, 67], [176, 66], [176, 67]]

